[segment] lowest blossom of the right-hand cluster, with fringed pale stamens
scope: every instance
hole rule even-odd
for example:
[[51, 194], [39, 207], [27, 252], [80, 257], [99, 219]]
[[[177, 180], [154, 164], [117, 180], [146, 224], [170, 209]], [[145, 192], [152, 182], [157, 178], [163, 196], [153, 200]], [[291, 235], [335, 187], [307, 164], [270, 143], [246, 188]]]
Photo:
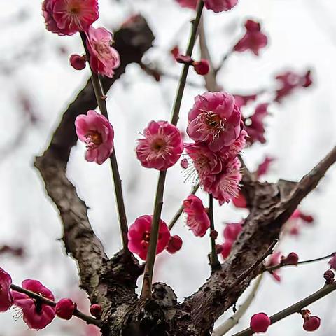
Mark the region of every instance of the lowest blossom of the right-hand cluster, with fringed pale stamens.
[[239, 182], [242, 177], [240, 169], [238, 158], [228, 161], [225, 169], [215, 179], [204, 179], [204, 190], [211, 193], [220, 205], [230, 202], [232, 198], [239, 196]]

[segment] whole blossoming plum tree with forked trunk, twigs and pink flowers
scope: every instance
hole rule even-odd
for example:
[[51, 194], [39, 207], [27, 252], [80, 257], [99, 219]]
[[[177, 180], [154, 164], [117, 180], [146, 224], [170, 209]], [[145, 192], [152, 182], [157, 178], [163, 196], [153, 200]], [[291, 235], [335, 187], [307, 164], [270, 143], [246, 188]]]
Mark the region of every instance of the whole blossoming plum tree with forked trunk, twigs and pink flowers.
[[[94, 22], [99, 18], [97, 0], [43, 1], [46, 29], [59, 36], [78, 33], [83, 42], [84, 54], [71, 55], [71, 66], [78, 71], [85, 69], [85, 66], [91, 70], [85, 99], [78, 95], [66, 111], [49, 148], [36, 159], [36, 167], [45, 181], [48, 195], [59, 209], [64, 225], [66, 251], [78, 262], [81, 285], [92, 305], [91, 315], [83, 314], [71, 298], [55, 302], [52, 292], [37, 280], [27, 279], [22, 282], [22, 286], [16, 286], [10, 274], [0, 268], [0, 311], [8, 311], [11, 307], [20, 309], [28, 328], [41, 330], [52, 323], [56, 316], [65, 320], [76, 316], [89, 325], [97, 326], [104, 336], [222, 336], [230, 332], [235, 324], [232, 325], [232, 321], [237, 320], [232, 318], [218, 328], [214, 328], [214, 322], [237, 302], [254, 278], [269, 272], [274, 279], [281, 281], [278, 274], [281, 267], [330, 259], [328, 270], [323, 274], [325, 286], [274, 316], [267, 316], [263, 312], [253, 314], [250, 328], [235, 336], [266, 332], [273, 323], [295, 313], [301, 314], [304, 319], [304, 330], [314, 331], [321, 324], [321, 318], [311, 316], [304, 307], [336, 290], [333, 272], [336, 254], [299, 261], [294, 252], [285, 257], [280, 251], [273, 253], [273, 249], [283, 235], [297, 234], [301, 222], [314, 221], [312, 216], [302, 213], [297, 206], [314, 190], [336, 161], [336, 148], [296, 183], [283, 180], [279, 183], [258, 181], [274, 159], [265, 158], [256, 172], [250, 172], [242, 153], [255, 142], [266, 142], [264, 119], [268, 115], [269, 105], [281, 103], [293, 90], [309, 87], [312, 83], [311, 72], [307, 71], [303, 76], [293, 72], [276, 76], [281, 87], [272, 92], [270, 101], [258, 102], [253, 114], [246, 116], [244, 109], [256, 101], [261, 93], [242, 96], [219, 90], [216, 74], [232, 52], [250, 50], [255, 56], [259, 55], [260, 50], [267, 45], [267, 36], [261, 30], [260, 23], [247, 20], [244, 36], [223, 57], [221, 64], [214, 68], [204, 43], [202, 13], [211, 10], [217, 15], [225, 15], [226, 11], [234, 10], [239, 1], [176, 2], [183, 8], [195, 10], [195, 19], [186, 55], [174, 48], [174, 57], [183, 64], [183, 71], [172, 118], [151, 120], [142, 137], [134, 144], [135, 155], [141, 166], [156, 169], [159, 178], [153, 214], [139, 214], [129, 226], [116, 155], [115, 145], [118, 144], [114, 144], [113, 120], [109, 119], [106, 109], [106, 92], [131, 62], [141, 64], [144, 70], [160, 80], [158, 73], [146, 69], [141, 62], [144, 52], [151, 47], [153, 34], [139, 15], [127, 20], [115, 36], [104, 27], [95, 28]], [[132, 39], [134, 36], [141, 38]], [[198, 36], [202, 53], [199, 62], [192, 58]], [[190, 106], [188, 113], [188, 127], [181, 130], [178, 121], [190, 66], [195, 68], [197, 74], [205, 77], [206, 92], [195, 97], [195, 104]], [[97, 107], [99, 109], [95, 111]], [[182, 131], [188, 134], [188, 141], [183, 141]], [[71, 147], [76, 143], [76, 136], [85, 143], [87, 162], [98, 165], [106, 160], [111, 162], [123, 241], [123, 249], [113, 258], [107, 257], [102, 242], [94, 235], [88, 221], [85, 204], [66, 179], [66, 162]], [[190, 195], [181, 199], [181, 208], [167, 225], [161, 218], [162, 207], [168, 202], [164, 195], [166, 176], [169, 168], [179, 160], [186, 175], [194, 177], [195, 186]], [[206, 194], [209, 202], [204, 204], [195, 195], [197, 192]], [[225, 203], [233, 202], [236, 207], [249, 211], [241, 223], [225, 225], [223, 244], [216, 244], [218, 231], [214, 221], [214, 201], [223, 207]], [[193, 235], [199, 237], [197, 239], [209, 237], [210, 276], [199, 290], [178, 303], [172, 288], [165, 283], [153, 283], [153, 270], [156, 255], [165, 250], [178, 253], [182, 248], [181, 237], [172, 235], [174, 225], [182, 213], [186, 214], [186, 225]], [[218, 255], [221, 255], [221, 259]], [[139, 262], [139, 259], [144, 263]], [[137, 279], [142, 274], [141, 294], [137, 295]], [[258, 286], [253, 288], [253, 294], [257, 289]], [[247, 307], [248, 303], [244, 309]], [[239, 311], [237, 313], [239, 316], [243, 314]]]

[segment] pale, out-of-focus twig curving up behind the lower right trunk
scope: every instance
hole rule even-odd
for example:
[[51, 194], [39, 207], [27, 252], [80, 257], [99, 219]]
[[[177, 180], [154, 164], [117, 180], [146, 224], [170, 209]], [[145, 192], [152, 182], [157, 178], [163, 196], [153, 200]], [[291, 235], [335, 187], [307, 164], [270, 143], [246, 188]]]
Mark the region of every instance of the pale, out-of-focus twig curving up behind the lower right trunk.
[[251, 303], [255, 298], [255, 294], [260, 288], [262, 275], [263, 274], [260, 274], [258, 279], [255, 281], [251, 292], [248, 294], [248, 297], [246, 297], [246, 300], [241, 304], [241, 306], [239, 306], [235, 314], [233, 314], [230, 318], [228, 318], [228, 320], [226, 320], [221, 325], [218, 325], [218, 327], [212, 333], [212, 336], [223, 336], [239, 323], [241, 317], [244, 316], [247, 309], [251, 306]]

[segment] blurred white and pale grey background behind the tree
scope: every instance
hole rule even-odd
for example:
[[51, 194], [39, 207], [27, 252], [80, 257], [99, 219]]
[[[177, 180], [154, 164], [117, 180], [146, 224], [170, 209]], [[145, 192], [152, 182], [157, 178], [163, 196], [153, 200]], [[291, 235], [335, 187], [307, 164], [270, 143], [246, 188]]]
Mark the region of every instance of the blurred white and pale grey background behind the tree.
[[[162, 76], [159, 83], [139, 65], [131, 64], [116, 82], [107, 99], [109, 115], [116, 132], [115, 144], [125, 188], [129, 222], [151, 214], [158, 172], [144, 169], [134, 153], [135, 140], [149, 120], [168, 119], [181, 66], [169, 50], [174, 45], [185, 49], [193, 10], [181, 8], [174, 0], [100, 0], [100, 18], [94, 25], [111, 31], [134, 13], [141, 13], [155, 34], [153, 48], [144, 62], [158, 64], [172, 76]], [[75, 71], [69, 66], [71, 53], [82, 53], [80, 38], [57, 36], [46, 31], [40, 0], [1, 1], [0, 11], [0, 267], [20, 284], [23, 279], [38, 279], [50, 288], [57, 300], [72, 297], [87, 309], [85, 293], [78, 289], [76, 264], [65, 255], [62, 225], [55, 205], [45, 194], [44, 184], [34, 168], [34, 158], [48, 146], [62, 112], [76, 97], [89, 78], [89, 71]], [[313, 84], [269, 106], [266, 119], [266, 144], [253, 144], [243, 157], [249, 168], [270, 155], [276, 158], [267, 181], [297, 181], [316, 165], [336, 144], [336, 10], [334, 0], [239, 0], [229, 13], [207, 11], [204, 25], [209, 49], [218, 64], [232, 45], [244, 34], [247, 18], [257, 20], [269, 37], [269, 45], [260, 56], [251, 52], [234, 53], [218, 74], [218, 83], [232, 93], [253, 94], [274, 90], [274, 76], [293, 70], [312, 69]], [[197, 53], [195, 50], [195, 58]], [[198, 54], [199, 55], [199, 54]], [[205, 91], [204, 80], [195, 71], [188, 77], [183, 97], [179, 127], [185, 129], [187, 114], [195, 95]], [[262, 100], [264, 99], [264, 100]], [[266, 100], [265, 100], [266, 99]], [[267, 96], [260, 102], [267, 101]], [[248, 107], [246, 108], [248, 112]], [[84, 160], [85, 148], [78, 144], [71, 152], [69, 179], [90, 207], [94, 231], [112, 256], [120, 248], [116, 207], [109, 163], [102, 166]], [[169, 222], [193, 181], [186, 179], [180, 165], [169, 169], [162, 219]], [[300, 209], [314, 216], [314, 225], [306, 225], [300, 235], [288, 235], [279, 248], [284, 254], [295, 251], [301, 260], [317, 258], [336, 251], [335, 200], [336, 169], [332, 167], [318, 189], [307, 197]], [[204, 197], [202, 192], [200, 197]], [[224, 223], [240, 221], [247, 212], [232, 204], [218, 207], [215, 221], [220, 232]], [[209, 276], [207, 253], [209, 239], [194, 237], [182, 217], [174, 234], [183, 238], [183, 248], [176, 255], [164, 252], [158, 257], [155, 280], [174, 288], [179, 300], [191, 295]], [[9, 249], [6, 248], [9, 246]], [[14, 249], [14, 251], [12, 251]], [[0, 251], [2, 251], [0, 250]], [[272, 315], [323, 286], [327, 261], [300, 268], [281, 270], [281, 283], [272, 276], [262, 279], [262, 286], [236, 331], [246, 328], [258, 311]], [[141, 284], [141, 279], [139, 279]], [[316, 336], [333, 335], [336, 328], [336, 294], [311, 305], [314, 315], [322, 318]], [[221, 321], [232, 314], [228, 311]], [[13, 318], [14, 317], [14, 318]], [[18, 311], [0, 315], [0, 336], [99, 335], [75, 318], [55, 321], [40, 332], [29, 331]], [[230, 332], [228, 335], [231, 335]], [[302, 318], [297, 314], [276, 323], [267, 335], [300, 336]]]

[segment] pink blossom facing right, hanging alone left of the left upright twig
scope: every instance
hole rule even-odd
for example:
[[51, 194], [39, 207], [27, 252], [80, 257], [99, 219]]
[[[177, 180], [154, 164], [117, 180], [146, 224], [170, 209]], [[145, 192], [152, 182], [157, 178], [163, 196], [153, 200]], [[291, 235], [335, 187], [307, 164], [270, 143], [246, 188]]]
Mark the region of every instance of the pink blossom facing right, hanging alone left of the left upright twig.
[[78, 139], [87, 147], [85, 159], [102, 165], [113, 152], [114, 131], [104, 116], [96, 111], [80, 114], [75, 121]]

